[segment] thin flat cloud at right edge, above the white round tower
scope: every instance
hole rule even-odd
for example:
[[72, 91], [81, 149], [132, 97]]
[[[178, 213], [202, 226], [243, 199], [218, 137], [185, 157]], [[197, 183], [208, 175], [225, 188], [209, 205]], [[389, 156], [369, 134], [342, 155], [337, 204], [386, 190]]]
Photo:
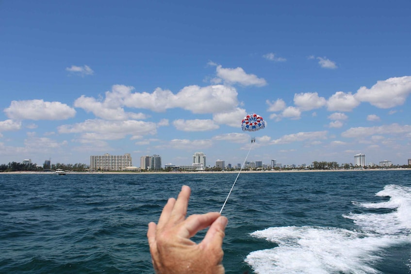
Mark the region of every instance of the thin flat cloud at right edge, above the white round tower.
[[362, 138], [365, 136], [370, 136], [370, 135], [381, 135], [381, 134], [409, 134], [411, 133], [411, 126], [410, 125], [404, 125], [401, 126], [399, 124], [391, 124], [391, 125], [383, 125], [379, 127], [358, 127], [358, 128], [351, 128], [343, 133], [341, 133], [341, 136], [346, 137], [346, 138]]

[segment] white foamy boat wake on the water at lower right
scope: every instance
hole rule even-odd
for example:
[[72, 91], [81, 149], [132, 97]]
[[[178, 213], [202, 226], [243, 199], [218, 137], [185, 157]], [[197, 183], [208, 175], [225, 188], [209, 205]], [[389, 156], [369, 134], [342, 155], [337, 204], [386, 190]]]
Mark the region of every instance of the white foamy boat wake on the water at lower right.
[[356, 205], [396, 210], [345, 216], [353, 219], [361, 232], [335, 227], [270, 227], [251, 235], [278, 247], [251, 252], [245, 261], [259, 274], [379, 273], [373, 265], [384, 248], [411, 241], [411, 188], [388, 185], [376, 195], [391, 199]]

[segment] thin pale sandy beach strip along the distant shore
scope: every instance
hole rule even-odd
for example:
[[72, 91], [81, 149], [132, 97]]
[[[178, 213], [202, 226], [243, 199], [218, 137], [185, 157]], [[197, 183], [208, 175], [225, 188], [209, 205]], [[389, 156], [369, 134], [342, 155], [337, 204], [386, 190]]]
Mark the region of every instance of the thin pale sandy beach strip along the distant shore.
[[[242, 170], [241, 173], [301, 173], [301, 172], [368, 172], [368, 171], [391, 171], [391, 170], [411, 170], [411, 168], [388, 168], [388, 169], [337, 169], [337, 170], [266, 170], [266, 171], [245, 171]], [[96, 174], [136, 174], [136, 175], [150, 175], [150, 174], [227, 174], [227, 173], [239, 173], [239, 171], [181, 171], [181, 172], [133, 172], [133, 171], [104, 171], [104, 172], [66, 172], [67, 175], [70, 174], [82, 174], [82, 175], [96, 175]], [[44, 172], [44, 171], [10, 171], [10, 172], [0, 172], [1, 174], [54, 174], [55, 172]]]

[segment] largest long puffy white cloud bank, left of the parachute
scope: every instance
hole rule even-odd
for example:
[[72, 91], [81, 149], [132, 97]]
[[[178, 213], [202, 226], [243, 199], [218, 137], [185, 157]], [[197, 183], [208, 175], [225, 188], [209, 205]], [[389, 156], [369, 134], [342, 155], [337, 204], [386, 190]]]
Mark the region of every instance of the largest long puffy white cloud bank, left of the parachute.
[[82, 96], [75, 101], [75, 106], [93, 112], [100, 118], [124, 120], [144, 119], [147, 116], [143, 113], [127, 113], [123, 107], [149, 109], [153, 112], [181, 108], [192, 113], [221, 113], [232, 111], [238, 105], [235, 88], [224, 85], [191, 85], [177, 94], [161, 88], [156, 88], [152, 93], [133, 90], [132, 86], [114, 85], [111, 91], [105, 93], [103, 101]]

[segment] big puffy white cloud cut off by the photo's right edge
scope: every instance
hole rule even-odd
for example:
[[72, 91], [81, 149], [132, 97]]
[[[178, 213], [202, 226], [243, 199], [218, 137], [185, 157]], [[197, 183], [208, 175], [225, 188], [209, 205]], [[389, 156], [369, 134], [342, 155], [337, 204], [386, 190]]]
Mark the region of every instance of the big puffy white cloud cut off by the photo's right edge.
[[403, 105], [411, 94], [411, 76], [394, 77], [377, 81], [370, 89], [361, 87], [355, 97], [381, 109]]

